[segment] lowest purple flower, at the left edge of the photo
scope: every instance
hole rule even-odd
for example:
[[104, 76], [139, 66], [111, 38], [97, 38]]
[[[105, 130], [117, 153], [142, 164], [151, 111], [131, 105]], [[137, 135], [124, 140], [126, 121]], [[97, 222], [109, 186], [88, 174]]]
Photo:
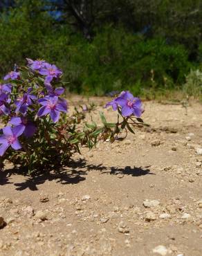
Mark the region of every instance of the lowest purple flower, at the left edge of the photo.
[[3, 156], [10, 146], [15, 150], [21, 149], [21, 145], [17, 138], [21, 136], [22, 133], [22, 127], [11, 128], [10, 126], [7, 126], [3, 128], [3, 135], [0, 136], [0, 156]]

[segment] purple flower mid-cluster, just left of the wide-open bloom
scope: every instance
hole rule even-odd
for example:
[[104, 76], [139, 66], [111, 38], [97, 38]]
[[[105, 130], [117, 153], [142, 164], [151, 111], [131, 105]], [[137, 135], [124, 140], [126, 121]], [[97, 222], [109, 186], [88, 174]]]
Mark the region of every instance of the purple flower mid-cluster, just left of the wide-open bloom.
[[28, 111], [28, 106], [33, 104], [33, 102], [37, 99], [37, 97], [33, 94], [30, 94], [30, 92], [33, 91], [32, 88], [28, 88], [28, 92], [24, 93], [24, 95], [21, 98], [18, 98], [15, 101], [15, 104], [17, 106], [16, 112], [19, 111], [23, 114]]

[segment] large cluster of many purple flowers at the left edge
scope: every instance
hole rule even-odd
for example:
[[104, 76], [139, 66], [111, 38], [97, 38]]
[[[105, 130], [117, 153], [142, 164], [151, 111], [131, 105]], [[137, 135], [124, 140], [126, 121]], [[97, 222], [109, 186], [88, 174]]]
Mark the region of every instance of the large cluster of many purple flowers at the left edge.
[[[21, 149], [18, 137], [33, 137], [37, 131], [38, 118], [50, 117], [49, 119], [56, 123], [60, 112], [67, 112], [68, 109], [66, 100], [60, 98], [64, 88], [55, 88], [51, 84], [59, 80], [62, 71], [44, 60], [27, 61], [27, 68], [33, 77], [42, 76], [44, 89], [41, 90], [38, 84], [29, 80], [23, 80], [20, 70], [11, 71], [3, 77], [3, 80], [9, 80], [9, 83], [0, 84], [0, 116], [7, 116], [8, 126], [2, 129], [0, 135], [0, 156], [5, 154], [8, 147]], [[27, 86], [25, 82], [28, 82]]]

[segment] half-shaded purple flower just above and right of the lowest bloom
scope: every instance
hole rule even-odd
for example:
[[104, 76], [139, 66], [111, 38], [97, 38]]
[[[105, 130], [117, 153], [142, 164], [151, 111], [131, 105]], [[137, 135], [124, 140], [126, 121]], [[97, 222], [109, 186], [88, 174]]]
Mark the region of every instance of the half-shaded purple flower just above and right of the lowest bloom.
[[19, 129], [22, 129], [26, 137], [32, 137], [37, 130], [33, 122], [28, 121], [28, 119], [24, 117], [12, 117], [10, 119], [10, 125], [14, 125], [15, 127], [19, 127]]

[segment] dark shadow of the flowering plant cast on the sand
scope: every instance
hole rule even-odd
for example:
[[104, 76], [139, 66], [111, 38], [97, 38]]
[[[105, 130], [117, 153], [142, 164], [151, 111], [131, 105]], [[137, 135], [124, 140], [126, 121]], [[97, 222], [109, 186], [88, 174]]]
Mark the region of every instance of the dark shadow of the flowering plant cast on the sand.
[[[84, 177], [90, 171], [99, 171], [102, 174], [111, 174], [118, 175], [119, 178], [122, 178], [125, 175], [131, 176], [143, 176], [147, 174], [153, 174], [150, 170], [142, 167], [130, 167], [125, 168], [120, 167], [105, 167], [103, 165], [89, 165], [84, 160], [80, 161], [71, 161], [66, 168], [61, 168], [57, 171], [50, 173], [37, 174], [36, 176], [25, 176], [24, 180], [21, 183], [14, 183], [17, 187], [16, 190], [38, 190], [37, 185], [41, 185], [46, 181], [55, 181], [57, 183], [65, 184], [77, 184], [81, 181], [84, 181]], [[9, 169], [0, 171], [0, 185], [12, 184], [11, 177], [13, 175], [23, 175], [24, 172], [21, 169]]]

